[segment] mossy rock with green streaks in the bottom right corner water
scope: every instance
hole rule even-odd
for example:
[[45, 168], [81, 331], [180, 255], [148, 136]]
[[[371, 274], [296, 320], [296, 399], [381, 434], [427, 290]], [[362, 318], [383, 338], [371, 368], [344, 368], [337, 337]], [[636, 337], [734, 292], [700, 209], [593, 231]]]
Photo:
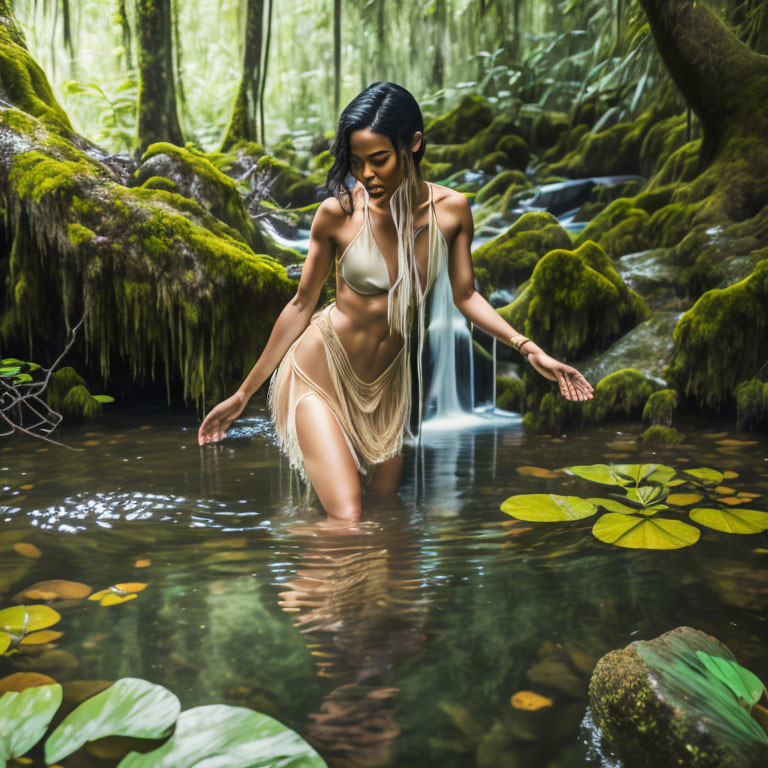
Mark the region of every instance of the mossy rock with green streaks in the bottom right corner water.
[[726, 646], [691, 627], [635, 641], [597, 663], [589, 684], [592, 713], [624, 768], [768, 763], [765, 732], [702, 658], [735, 664]]

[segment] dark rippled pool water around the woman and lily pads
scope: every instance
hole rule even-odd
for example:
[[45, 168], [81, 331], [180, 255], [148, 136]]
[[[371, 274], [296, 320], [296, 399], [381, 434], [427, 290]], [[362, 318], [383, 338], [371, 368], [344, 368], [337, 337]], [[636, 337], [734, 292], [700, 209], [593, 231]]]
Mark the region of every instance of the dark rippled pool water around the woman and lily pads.
[[[62, 637], [0, 658], [0, 677], [143, 677], [184, 708], [273, 715], [331, 768], [598, 765], [583, 724], [592, 666], [680, 625], [768, 680], [766, 534], [704, 530], [685, 549], [630, 550], [595, 539], [593, 518], [523, 523], [499, 509], [517, 493], [595, 493], [525, 467], [611, 460], [736, 471], [729, 485], [766, 509], [765, 436], [683, 418], [686, 442], [662, 450], [637, 441], [640, 425], [433, 431], [418, 483], [408, 449], [399, 496], [366, 499], [359, 532], [329, 534], [319, 510], [291, 503], [263, 399], [219, 445], [198, 447], [198, 424], [145, 405], [63, 429], [79, 452], [6, 439], [0, 606], [49, 579], [147, 587], [119, 605], [65, 602]], [[516, 709], [521, 690], [552, 704]]]

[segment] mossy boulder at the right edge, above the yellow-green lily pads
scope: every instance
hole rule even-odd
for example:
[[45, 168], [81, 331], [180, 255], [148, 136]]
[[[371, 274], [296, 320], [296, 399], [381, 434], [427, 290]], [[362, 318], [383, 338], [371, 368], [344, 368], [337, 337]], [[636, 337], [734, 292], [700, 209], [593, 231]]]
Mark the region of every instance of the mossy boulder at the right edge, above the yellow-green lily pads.
[[707, 291], [680, 318], [667, 380], [700, 406], [719, 409], [768, 359], [768, 259], [729, 288]]

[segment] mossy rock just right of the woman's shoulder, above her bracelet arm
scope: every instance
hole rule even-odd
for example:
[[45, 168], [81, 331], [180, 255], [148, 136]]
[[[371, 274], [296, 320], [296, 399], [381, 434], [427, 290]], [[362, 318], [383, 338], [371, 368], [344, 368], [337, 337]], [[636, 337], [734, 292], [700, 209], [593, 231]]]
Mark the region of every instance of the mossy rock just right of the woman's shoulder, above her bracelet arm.
[[[481, 192], [488, 194], [488, 186]], [[494, 288], [508, 288], [527, 280], [544, 254], [570, 246], [570, 236], [551, 213], [529, 211], [506, 232], [477, 248], [472, 261], [488, 270]]]

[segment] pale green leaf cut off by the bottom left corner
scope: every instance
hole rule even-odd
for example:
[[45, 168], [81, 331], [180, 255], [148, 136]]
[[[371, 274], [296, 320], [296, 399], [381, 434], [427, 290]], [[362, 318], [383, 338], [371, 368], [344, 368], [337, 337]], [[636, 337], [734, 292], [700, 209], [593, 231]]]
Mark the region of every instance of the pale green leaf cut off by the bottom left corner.
[[37, 744], [61, 704], [61, 686], [40, 685], [0, 696], [0, 765]]

